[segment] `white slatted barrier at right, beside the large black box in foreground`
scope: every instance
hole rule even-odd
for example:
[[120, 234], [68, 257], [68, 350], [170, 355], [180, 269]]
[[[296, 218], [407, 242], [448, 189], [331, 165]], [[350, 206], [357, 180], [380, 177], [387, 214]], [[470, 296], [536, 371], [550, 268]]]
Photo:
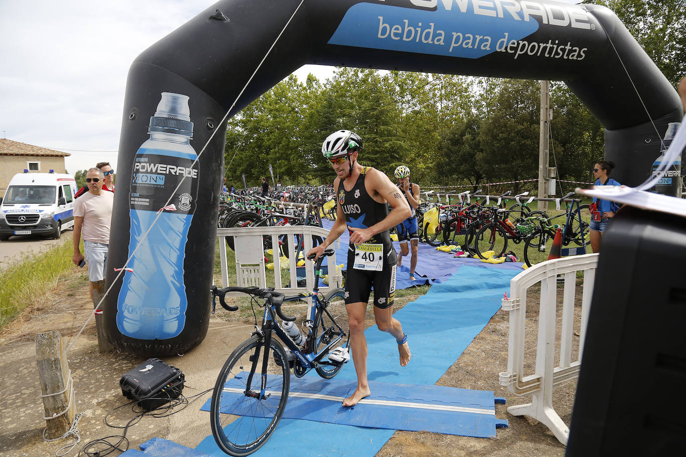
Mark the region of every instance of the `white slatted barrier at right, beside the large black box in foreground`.
[[[510, 282], [510, 298], [505, 298], [502, 301], [502, 309], [510, 312], [510, 341], [508, 371], [500, 373], [499, 382], [501, 386], [507, 386], [508, 390], [516, 395], [533, 395], [531, 403], [510, 406], [508, 412], [514, 416], [528, 415], [540, 421], [555, 434], [555, 437], [563, 445], [567, 445], [569, 428], [553, 408], [553, 391], [559, 384], [578, 378], [597, 265], [598, 254], [585, 254], [541, 262], [513, 277]], [[584, 282], [578, 357], [576, 360], [571, 360], [577, 271], [584, 271]], [[556, 312], [558, 304], [556, 290], [558, 275], [564, 277], [565, 282], [562, 303], [562, 331], [557, 342]], [[536, 345], [536, 369], [534, 374], [525, 375], [526, 293], [530, 286], [539, 282], [541, 283], [541, 303], [538, 343]], [[558, 367], [554, 367], [556, 343], [560, 347], [560, 365]]]

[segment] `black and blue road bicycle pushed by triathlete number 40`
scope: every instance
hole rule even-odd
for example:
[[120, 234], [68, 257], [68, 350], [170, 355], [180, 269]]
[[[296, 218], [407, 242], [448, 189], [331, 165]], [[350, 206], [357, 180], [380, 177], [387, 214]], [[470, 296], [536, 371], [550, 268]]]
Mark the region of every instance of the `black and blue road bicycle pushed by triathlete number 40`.
[[[318, 290], [322, 260], [331, 254], [333, 249], [325, 250], [316, 262], [317, 285], [301, 326], [304, 334], [292, 327], [296, 317], [283, 314], [281, 305], [310, 295], [285, 297], [273, 288], [212, 286], [214, 306], [219, 297], [226, 310], [238, 310], [224, 301], [228, 292], [246, 293], [252, 296], [252, 304], [264, 306], [261, 327], [256, 317], [255, 332], [228, 356], [212, 393], [212, 434], [226, 454], [252, 454], [274, 433], [286, 407], [291, 369], [298, 378], [314, 368], [322, 378], [329, 379], [350, 360], [344, 291], [337, 288], [322, 298]], [[283, 320], [283, 327], [276, 316]]]

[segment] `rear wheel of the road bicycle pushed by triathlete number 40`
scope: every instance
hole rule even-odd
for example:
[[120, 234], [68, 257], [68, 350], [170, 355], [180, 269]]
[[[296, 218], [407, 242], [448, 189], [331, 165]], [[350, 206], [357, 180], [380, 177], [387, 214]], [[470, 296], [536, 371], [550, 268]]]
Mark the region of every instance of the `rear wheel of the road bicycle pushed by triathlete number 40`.
[[[348, 311], [345, 307], [345, 292], [342, 288], [335, 289], [324, 298], [322, 307], [317, 310], [312, 329], [312, 341], [315, 354], [327, 347], [331, 341], [339, 339], [336, 347], [350, 347], [350, 328], [348, 327]], [[335, 363], [335, 362], [331, 362]], [[340, 365], [323, 365], [317, 367], [317, 373], [324, 379], [333, 378], [343, 367]]]

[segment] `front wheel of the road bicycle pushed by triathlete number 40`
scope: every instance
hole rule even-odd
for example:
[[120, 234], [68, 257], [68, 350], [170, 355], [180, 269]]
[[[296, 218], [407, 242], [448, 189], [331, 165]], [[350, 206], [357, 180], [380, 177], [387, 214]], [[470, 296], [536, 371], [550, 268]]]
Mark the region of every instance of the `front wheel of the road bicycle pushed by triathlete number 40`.
[[[268, 351], [265, 393], [260, 396], [264, 351]], [[255, 373], [248, 385], [252, 360]], [[288, 400], [288, 360], [279, 341], [269, 347], [253, 336], [237, 347], [222, 367], [210, 406], [210, 424], [217, 445], [231, 456], [257, 451], [276, 430]]]

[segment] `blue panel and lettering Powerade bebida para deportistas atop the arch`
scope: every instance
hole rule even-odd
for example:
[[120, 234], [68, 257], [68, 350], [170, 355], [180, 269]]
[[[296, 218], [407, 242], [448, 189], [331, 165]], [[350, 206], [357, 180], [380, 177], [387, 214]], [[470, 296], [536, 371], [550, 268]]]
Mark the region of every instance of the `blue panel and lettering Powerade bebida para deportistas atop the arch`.
[[[572, 42], [523, 38], [545, 25], [595, 29], [578, 5], [526, 0], [377, 0], [346, 12], [329, 43], [477, 59], [501, 52], [583, 60], [587, 48]], [[392, 3], [393, 5], [390, 5]]]

